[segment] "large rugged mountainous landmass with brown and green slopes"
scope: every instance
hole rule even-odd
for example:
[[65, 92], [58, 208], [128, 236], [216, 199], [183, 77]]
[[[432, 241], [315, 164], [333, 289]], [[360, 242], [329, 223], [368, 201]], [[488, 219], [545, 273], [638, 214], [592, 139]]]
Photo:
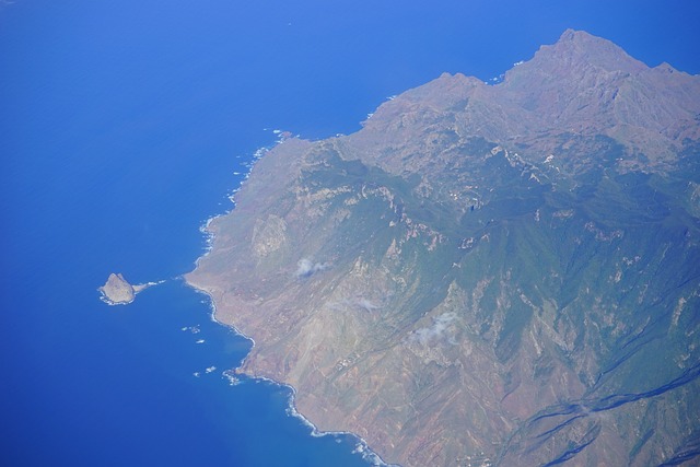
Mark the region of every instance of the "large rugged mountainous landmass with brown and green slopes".
[[402, 466], [700, 455], [700, 78], [567, 31], [269, 151], [187, 280]]

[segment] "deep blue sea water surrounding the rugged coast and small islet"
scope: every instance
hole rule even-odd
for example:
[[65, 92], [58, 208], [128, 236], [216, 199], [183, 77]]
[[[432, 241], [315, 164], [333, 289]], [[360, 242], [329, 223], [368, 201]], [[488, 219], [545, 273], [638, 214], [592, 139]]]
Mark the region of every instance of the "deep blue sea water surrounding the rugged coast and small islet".
[[[178, 277], [273, 128], [354, 131], [386, 96], [498, 75], [565, 27], [700, 71], [697, 7], [495, 3], [0, 4], [0, 464], [366, 465], [289, 417], [290, 389], [231, 386], [249, 342]], [[112, 271], [166, 282], [110, 307]]]

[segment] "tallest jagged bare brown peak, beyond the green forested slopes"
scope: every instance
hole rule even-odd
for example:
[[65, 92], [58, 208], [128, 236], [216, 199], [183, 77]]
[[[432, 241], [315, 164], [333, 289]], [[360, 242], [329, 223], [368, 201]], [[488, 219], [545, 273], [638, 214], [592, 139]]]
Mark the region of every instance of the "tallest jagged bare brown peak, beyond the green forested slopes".
[[698, 139], [700, 79], [667, 63], [649, 68], [615, 44], [567, 31], [553, 46], [509, 71], [501, 105], [528, 110], [551, 131], [604, 133], [633, 157], [672, 162]]

